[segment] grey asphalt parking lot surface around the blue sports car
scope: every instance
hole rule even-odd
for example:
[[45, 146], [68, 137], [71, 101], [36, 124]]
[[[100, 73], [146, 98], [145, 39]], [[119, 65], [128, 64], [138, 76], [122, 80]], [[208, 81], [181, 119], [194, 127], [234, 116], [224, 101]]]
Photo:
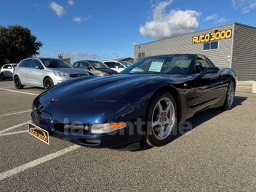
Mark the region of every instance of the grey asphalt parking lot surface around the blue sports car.
[[0, 81], [0, 191], [256, 191], [256, 95], [247, 87], [231, 111], [199, 113], [169, 145], [133, 152], [29, 135], [43, 91]]

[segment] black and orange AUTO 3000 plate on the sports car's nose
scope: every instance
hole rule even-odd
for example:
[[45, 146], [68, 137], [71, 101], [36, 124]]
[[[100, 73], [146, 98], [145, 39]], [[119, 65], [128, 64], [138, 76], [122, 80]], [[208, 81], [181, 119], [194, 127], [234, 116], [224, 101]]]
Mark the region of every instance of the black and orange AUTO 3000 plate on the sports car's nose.
[[28, 123], [28, 133], [49, 145], [49, 132], [46, 130], [41, 129], [34, 124]]

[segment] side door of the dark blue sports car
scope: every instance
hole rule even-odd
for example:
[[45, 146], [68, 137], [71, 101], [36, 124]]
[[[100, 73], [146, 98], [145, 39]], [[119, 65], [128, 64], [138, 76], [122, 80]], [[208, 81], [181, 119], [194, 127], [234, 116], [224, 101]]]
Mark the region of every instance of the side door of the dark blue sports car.
[[197, 57], [194, 73], [196, 74], [196, 95], [194, 105], [199, 109], [215, 105], [223, 95], [223, 85], [220, 74], [206, 73], [202, 75], [205, 68], [214, 67], [205, 57]]

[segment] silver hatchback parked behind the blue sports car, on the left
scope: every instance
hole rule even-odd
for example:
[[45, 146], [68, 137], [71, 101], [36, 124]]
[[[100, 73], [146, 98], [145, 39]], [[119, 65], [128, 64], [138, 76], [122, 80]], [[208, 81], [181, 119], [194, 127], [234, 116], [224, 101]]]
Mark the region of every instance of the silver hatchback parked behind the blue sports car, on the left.
[[15, 68], [13, 81], [17, 89], [22, 89], [25, 85], [49, 89], [65, 80], [80, 76], [89, 76], [89, 73], [73, 68], [63, 60], [33, 57], [20, 61]]

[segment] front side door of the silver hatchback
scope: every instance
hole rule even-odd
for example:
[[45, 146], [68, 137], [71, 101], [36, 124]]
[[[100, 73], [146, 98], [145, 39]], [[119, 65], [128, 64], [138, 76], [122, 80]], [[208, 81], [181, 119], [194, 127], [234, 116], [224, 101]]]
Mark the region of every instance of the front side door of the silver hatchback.
[[43, 87], [44, 66], [38, 59], [31, 60], [31, 67], [28, 71], [28, 81], [32, 86]]

